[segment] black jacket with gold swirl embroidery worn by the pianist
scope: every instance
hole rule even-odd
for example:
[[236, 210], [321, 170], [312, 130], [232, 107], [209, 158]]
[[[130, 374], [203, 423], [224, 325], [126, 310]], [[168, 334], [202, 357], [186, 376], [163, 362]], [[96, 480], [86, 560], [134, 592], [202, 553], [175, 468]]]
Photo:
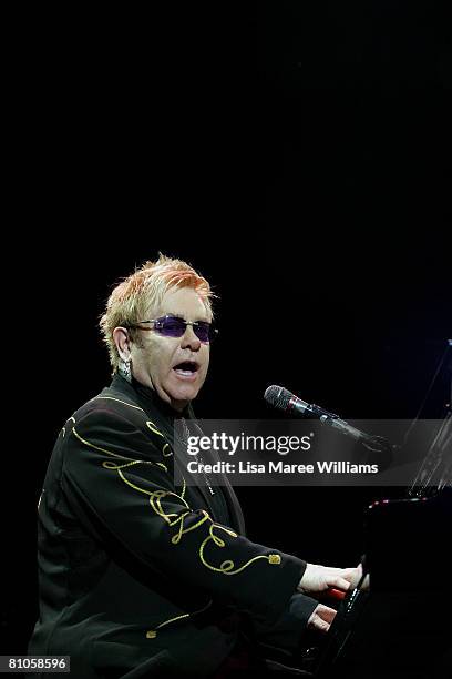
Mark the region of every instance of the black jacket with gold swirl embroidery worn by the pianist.
[[209, 676], [240, 635], [296, 648], [316, 607], [304, 561], [245, 537], [230, 486], [174, 486], [174, 416], [116, 375], [58, 437], [29, 653], [70, 655], [74, 679]]

